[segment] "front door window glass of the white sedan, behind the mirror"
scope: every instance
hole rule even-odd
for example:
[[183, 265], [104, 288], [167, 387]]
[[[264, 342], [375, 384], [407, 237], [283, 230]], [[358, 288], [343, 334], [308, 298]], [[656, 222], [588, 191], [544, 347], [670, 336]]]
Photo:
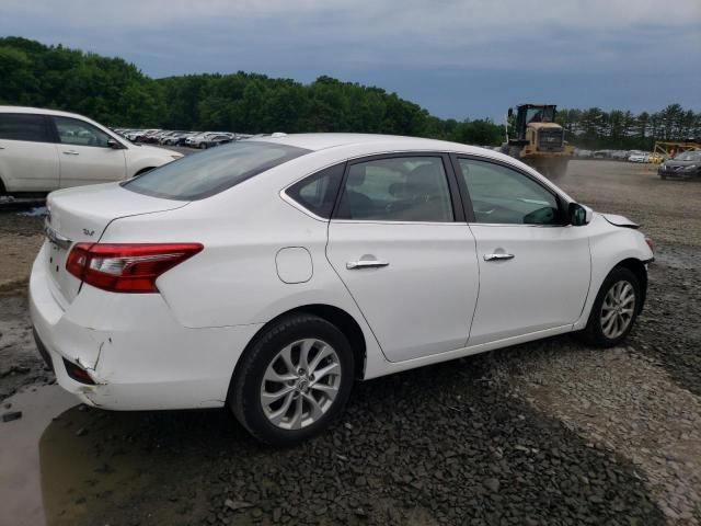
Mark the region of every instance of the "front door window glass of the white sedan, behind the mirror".
[[475, 222], [563, 225], [558, 198], [527, 175], [492, 162], [459, 159]]

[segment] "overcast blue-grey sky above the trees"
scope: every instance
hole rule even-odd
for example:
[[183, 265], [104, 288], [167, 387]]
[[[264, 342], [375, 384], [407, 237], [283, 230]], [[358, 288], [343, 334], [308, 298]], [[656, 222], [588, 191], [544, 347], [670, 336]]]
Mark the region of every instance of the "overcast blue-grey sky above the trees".
[[0, 35], [136, 64], [374, 84], [441, 117], [701, 111], [701, 0], [0, 0]]

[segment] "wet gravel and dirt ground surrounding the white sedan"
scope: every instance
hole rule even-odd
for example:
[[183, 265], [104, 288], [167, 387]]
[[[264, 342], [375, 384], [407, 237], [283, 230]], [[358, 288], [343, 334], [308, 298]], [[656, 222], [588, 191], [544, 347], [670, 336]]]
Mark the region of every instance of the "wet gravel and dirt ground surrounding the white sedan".
[[24, 412], [0, 423], [0, 525], [701, 524], [701, 183], [575, 161], [560, 184], [656, 243], [625, 346], [554, 338], [361, 382], [286, 450], [226, 410], [104, 412], [50, 385], [23, 294], [41, 220], [0, 213], [0, 412]]

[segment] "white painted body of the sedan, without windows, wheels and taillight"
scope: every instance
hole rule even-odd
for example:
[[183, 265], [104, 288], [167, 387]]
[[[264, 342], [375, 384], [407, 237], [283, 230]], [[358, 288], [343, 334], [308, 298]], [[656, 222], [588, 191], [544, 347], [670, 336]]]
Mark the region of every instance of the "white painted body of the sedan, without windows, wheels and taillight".
[[[66, 272], [68, 250], [44, 243], [30, 282], [31, 315], [65, 389], [107, 409], [222, 405], [258, 330], [312, 305], [353, 318], [365, 340], [361, 377], [375, 378], [583, 329], [607, 274], [629, 258], [652, 259], [640, 231], [590, 210], [590, 222], [578, 227], [327, 220], [285, 194], [338, 162], [422, 151], [506, 163], [573, 202], [495, 151], [345, 134], [253, 140], [311, 151], [200, 201], [150, 197], [118, 184], [49, 195], [49, 227], [73, 244], [205, 247], [161, 275], [158, 294], [119, 294], [81, 286]], [[501, 250], [516, 258], [484, 261]], [[371, 256], [389, 266], [347, 268]], [[68, 377], [62, 359], [83, 367], [95, 385]]]

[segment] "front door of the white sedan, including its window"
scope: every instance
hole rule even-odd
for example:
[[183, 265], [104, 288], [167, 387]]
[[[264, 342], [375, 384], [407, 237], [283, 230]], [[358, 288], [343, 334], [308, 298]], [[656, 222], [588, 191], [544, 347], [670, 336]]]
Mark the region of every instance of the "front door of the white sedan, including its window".
[[560, 198], [526, 173], [479, 159], [457, 164], [480, 264], [469, 345], [576, 322], [589, 289], [589, 229], [567, 225]]

